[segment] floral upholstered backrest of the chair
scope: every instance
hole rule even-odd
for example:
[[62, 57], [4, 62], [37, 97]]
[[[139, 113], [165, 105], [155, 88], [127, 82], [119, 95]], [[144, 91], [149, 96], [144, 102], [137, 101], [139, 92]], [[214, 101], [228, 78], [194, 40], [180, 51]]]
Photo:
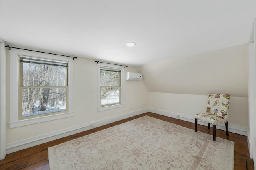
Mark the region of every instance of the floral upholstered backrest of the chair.
[[229, 100], [229, 94], [210, 93], [206, 112], [228, 118]]

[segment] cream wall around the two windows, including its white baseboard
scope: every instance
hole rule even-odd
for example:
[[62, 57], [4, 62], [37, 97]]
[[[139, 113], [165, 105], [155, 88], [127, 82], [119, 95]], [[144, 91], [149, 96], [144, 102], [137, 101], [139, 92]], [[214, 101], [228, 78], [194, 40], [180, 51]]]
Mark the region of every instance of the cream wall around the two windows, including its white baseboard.
[[[10, 53], [6, 52], [6, 68], [10, 68]], [[128, 66], [124, 72], [137, 72], [135, 67]], [[10, 122], [10, 70], [7, 69], [7, 100], [6, 100], [6, 122]], [[74, 60], [74, 116], [44, 123], [37, 123], [23, 127], [9, 128], [6, 125], [7, 153], [16, 151], [18, 146], [30, 147], [38, 144], [36, 140], [47, 141], [52, 135], [79, 129], [96, 122], [96, 126], [102, 123], [110, 123], [118, 119], [124, 119], [134, 114], [148, 111], [148, 90], [143, 81], [126, 81], [124, 78], [124, 101], [125, 106], [106, 111], [97, 111], [97, 64], [95, 60], [78, 57]], [[100, 121], [108, 119], [107, 121]], [[100, 122], [97, 124], [97, 122]], [[92, 128], [90, 126], [90, 128]], [[81, 129], [83, 131], [83, 129]], [[74, 132], [70, 132], [72, 134]], [[54, 139], [54, 138], [49, 138]], [[28, 144], [33, 143], [33, 144]], [[28, 145], [27, 145], [28, 144]], [[26, 145], [26, 146], [25, 146]], [[16, 147], [16, 148], [15, 148]], [[13, 149], [15, 148], [15, 149]]]

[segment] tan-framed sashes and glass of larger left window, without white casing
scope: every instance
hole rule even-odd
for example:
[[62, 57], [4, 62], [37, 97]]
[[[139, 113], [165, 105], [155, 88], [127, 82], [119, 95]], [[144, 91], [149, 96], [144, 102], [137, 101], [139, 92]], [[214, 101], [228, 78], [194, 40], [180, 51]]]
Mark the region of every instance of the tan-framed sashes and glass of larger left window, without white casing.
[[20, 56], [19, 119], [68, 112], [68, 62]]

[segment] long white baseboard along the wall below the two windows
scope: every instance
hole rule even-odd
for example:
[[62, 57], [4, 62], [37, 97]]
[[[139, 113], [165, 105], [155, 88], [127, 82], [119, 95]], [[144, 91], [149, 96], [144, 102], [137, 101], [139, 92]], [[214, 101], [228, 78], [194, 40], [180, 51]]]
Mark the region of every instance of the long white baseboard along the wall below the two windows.
[[33, 147], [33, 146], [36, 146], [36, 145], [40, 145], [42, 143], [46, 143], [46, 142], [53, 141], [53, 140], [56, 140], [56, 139], [60, 139], [62, 137], [66, 137], [66, 136], [69, 136], [69, 135], [74, 135], [76, 133], [80, 133], [80, 132], [83, 132], [83, 131], [93, 129], [94, 127], [99, 127], [99, 126], [102, 126], [102, 125], [106, 125], [108, 123], [112, 123], [112, 122], [115, 122], [115, 121], [126, 119], [128, 117], [132, 117], [132, 116], [135, 116], [135, 115], [140, 115], [140, 114], [146, 113], [146, 112], [148, 112], [148, 108], [132, 111], [132, 112], [129, 112], [129, 113], [124, 113], [122, 115], [109, 117], [107, 119], [102, 119], [102, 120], [98, 120], [98, 121], [95, 121], [95, 122], [86, 123], [86, 124], [83, 124], [83, 125], [78, 125], [78, 126], [75, 126], [75, 127], [70, 127], [70, 128], [67, 128], [67, 129], [63, 129], [63, 130], [60, 130], [60, 131], [55, 131], [55, 132], [52, 132], [52, 133], [47, 133], [47, 134], [44, 134], [44, 135], [39, 135], [39, 136], [36, 136], [36, 137], [24, 139], [24, 140], [21, 140], [21, 141], [8, 143], [6, 145], [6, 154], [16, 152], [18, 150], [26, 149], [26, 148], [29, 148], [29, 147]]

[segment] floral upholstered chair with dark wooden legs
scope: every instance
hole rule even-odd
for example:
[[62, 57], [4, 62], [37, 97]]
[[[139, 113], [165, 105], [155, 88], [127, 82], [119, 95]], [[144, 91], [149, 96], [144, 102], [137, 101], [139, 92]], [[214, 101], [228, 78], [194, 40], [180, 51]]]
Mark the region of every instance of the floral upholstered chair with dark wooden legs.
[[229, 94], [209, 94], [206, 113], [195, 115], [195, 131], [197, 131], [197, 120], [206, 121], [210, 129], [210, 123], [213, 129], [213, 140], [216, 141], [216, 125], [225, 123], [226, 135], [228, 136], [228, 109]]

